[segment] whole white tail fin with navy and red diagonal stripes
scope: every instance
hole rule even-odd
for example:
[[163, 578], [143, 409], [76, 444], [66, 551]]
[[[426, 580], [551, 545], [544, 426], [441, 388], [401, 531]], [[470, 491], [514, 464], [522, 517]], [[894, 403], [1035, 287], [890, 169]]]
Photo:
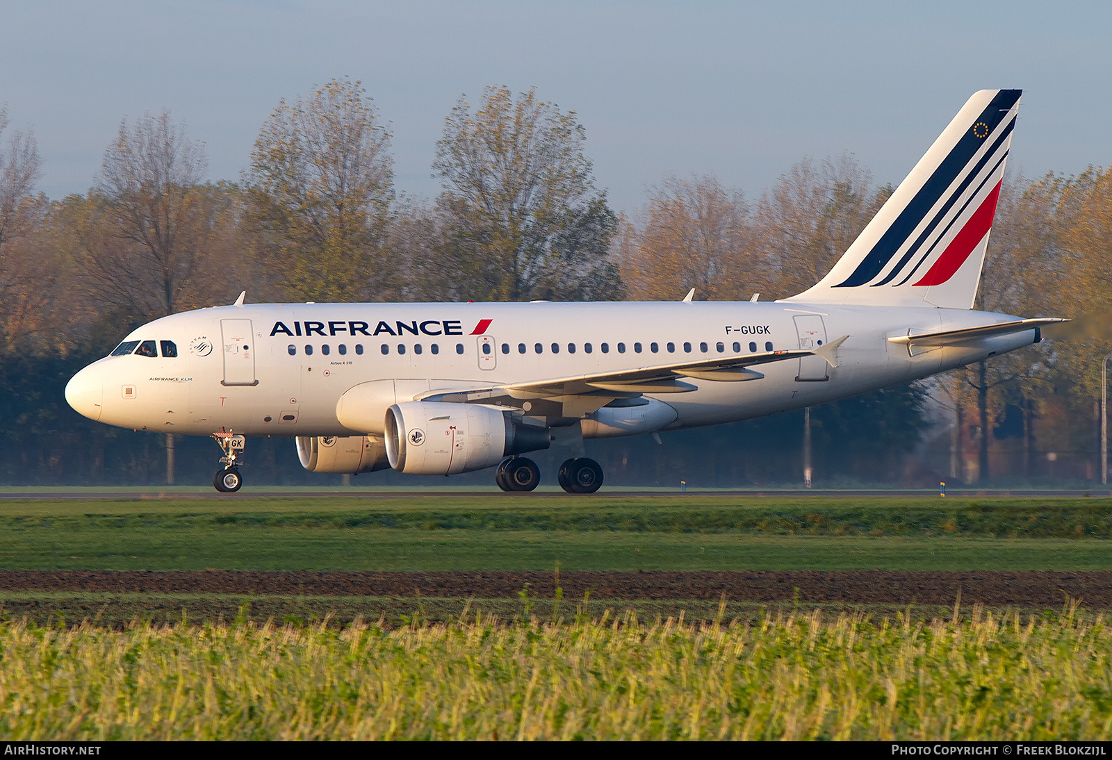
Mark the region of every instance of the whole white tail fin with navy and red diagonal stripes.
[[974, 93], [830, 273], [784, 300], [973, 308], [1021, 92]]

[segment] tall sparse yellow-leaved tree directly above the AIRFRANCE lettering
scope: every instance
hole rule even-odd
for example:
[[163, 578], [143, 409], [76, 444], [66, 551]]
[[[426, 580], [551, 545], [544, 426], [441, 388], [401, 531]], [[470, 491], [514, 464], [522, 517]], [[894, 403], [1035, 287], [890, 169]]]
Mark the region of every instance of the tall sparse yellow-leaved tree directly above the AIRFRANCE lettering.
[[280, 101], [262, 126], [248, 177], [252, 204], [298, 296], [369, 300], [396, 287], [383, 256], [394, 200], [389, 143], [366, 90], [346, 78]]

